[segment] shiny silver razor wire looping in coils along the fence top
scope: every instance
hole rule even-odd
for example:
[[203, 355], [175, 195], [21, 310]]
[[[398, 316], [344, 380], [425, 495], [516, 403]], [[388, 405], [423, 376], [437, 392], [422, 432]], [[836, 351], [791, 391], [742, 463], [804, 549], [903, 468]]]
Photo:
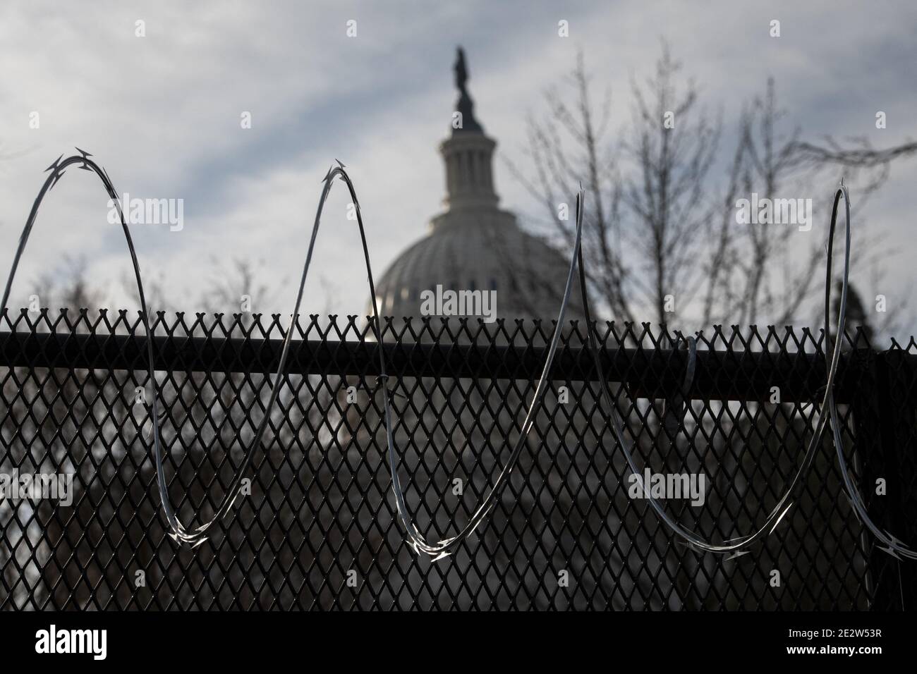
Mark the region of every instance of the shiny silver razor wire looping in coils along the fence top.
[[[348, 186], [348, 192], [350, 193], [351, 198], [353, 199], [354, 209], [357, 215], [357, 224], [359, 227], [360, 242], [363, 249], [363, 256], [366, 261], [366, 271], [367, 277], [370, 284], [370, 297], [372, 302], [372, 325], [373, 334], [376, 337], [379, 344], [381, 344], [381, 320], [379, 316], [379, 307], [376, 299], [375, 292], [375, 282], [372, 276], [372, 270], [370, 266], [370, 252], [369, 246], [366, 239], [366, 231], [363, 226], [363, 218], [359, 208], [359, 200], [357, 198], [356, 190], [351, 182], [350, 177], [348, 176], [345, 166], [337, 161], [337, 167], [332, 167], [328, 169], [325, 178], [323, 179], [324, 187], [322, 189], [322, 194], [319, 199], [318, 207], [315, 213], [315, 222], [312, 228], [312, 236], [309, 241], [309, 248], [306, 253], [306, 258], [303, 267], [303, 276], [299, 284], [299, 289], [296, 295], [296, 302], [293, 305], [293, 314], [291, 315], [290, 326], [286, 331], [286, 335], [283, 338], [283, 345], [281, 351], [281, 358], [278, 363], [277, 372], [273, 378], [268, 379], [269, 386], [271, 387], [271, 395], [269, 397], [268, 403], [265, 407], [264, 416], [261, 420], [261, 423], [255, 433], [255, 436], [245, 450], [244, 457], [242, 462], [239, 464], [236, 475], [226, 491], [226, 495], [223, 498], [223, 501], [216, 508], [214, 516], [205, 522], [203, 525], [199, 525], [194, 529], [187, 529], [182, 525], [181, 521], [178, 519], [178, 516], [175, 514], [175, 511], [171, 505], [171, 499], [169, 498], [168, 487], [165, 482], [165, 471], [163, 469], [162, 461], [162, 443], [160, 438], [160, 418], [159, 413], [159, 390], [155, 378], [155, 363], [154, 363], [154, 351], [153, 351], [153, 339], [152, 331], [149, 325], [149, 315], [147, 311], [146, 296], [143, 292], [143, 282], [140, 276], [139, 264], [137, 260], [137, 254], [134, 249], [133, 239], [130, 236], [130, 231], [127, 228], [127, 223], [125, 221], [124, 212], [120, 203], [120, 199], [117, 196], [115, 188], [111, 182], [111, 179], [108, 177], [105, 169], [101, 168], [94, 160], [90, 159], [93, 155], [85, 152], [82, 149], [77, 148], [79, 155], [72, 155], [66, 160], [62, 160], [63, 155], [54, 161], [48, 167], [46, 171], [50, 171], [50, 175], [44, 182], [39, 191], [39, 195], [36, 197], [35, 203], [32, 205], [32, 209], [28, 215], [26, 221], [26, 226], [23, 228], [22, 236], [19, 239], [19, 245], [17, 248], [16, 256], [13, 260], [12, 267], [10, 269], [9, 275], [6, 280], [6, 288], [4, 290], [2, 302], [0, 302], [0, 311], [6, 310], [6, 303], [9, 299], [9, 294], [12, 288], [13, 281], [16, 277], [16, 272], [18, 269], [19, 261], [22, 258], [22, 254], [26, 249], [26, 244], [28, 243], [28, 238], [31, 234], [32, 227], [35, 224], [35, 220], [38, 216], [39, 206], [44, 199], [45, 195], [61, 180], [61, 177], [64, 174], [64, 171], [67, 167], [73, 164], [80, 164], [80, 169], [84, 171], [93, 171], [98, 175], [99, 179], [103, 182], [105, 186], [105, 191], [108, 193], [112, 202], [115, 204], [118, 217], [121, 222], [121, 227], [125, 235], [127, 242], [127, 249], [130, 253], [131, 264], [134, 270], [135, 280], [137, 281], [140, 310], [141, 310], [141, 322], [144, 326], [144, 329], [147, 333], [147, 355], [149, 359], [149, 380], [150, 386], [153, 388], [152, 402], [150, 404], [150, 414], [149, 418], [152, 426], [152, 438], [153, 438], [153, 448], [154, 448], [154, 459], [156, 465], [157, 473], [157, 485], [160, 492], [160, 499], [162, 501], [162, 509], [166, 515], [166, 519], [171, 527], [170, 535], [177, 541], [182, 543], [187, 543], [191, 546], [197, 546], [204, 542], [207, 538], [207, 533], [215, 525], [215, 523], [224, 517], [229, 510], [232, 508], [233, 503], [235, 503], [238, 498], [238, 494], [241, 491], [242, 481], [244, 479], [245, 472], [249, 469], [251, 461], [253, 459], [254, 450], [257, 447], [260, 447], [260, 444], [263, 440], [264, 433], [267, 429], [267, 426], [270, 423], [271, 411], [273, 405], [276, 403], [278, 393], [280, 391], [280, 386], [277, 384], [277, 380], [282, 376], [283, 370], [286, 367], [286, 361], [289, 356], [290, 344], [293, 337], [293, 330], [296, 326], [296, 321], [299, 316], [300, 306], [302, 304], [305, 281], [308, 276], [309, 267], [312, 262], [313, 252], [315, 250], [315, 239], [318, 234], [318, 228], [321, 224], [321, 216], [324, 211], [325, 203], [328, 194], [331, 190], [331, 185], [334, 182], [335, 178], [340, 178]], [[608, 382], [605, 380], [602, 362], [599, 353], [599, 346], [597, 336], [597, 329], [593, 321], [591, 320], [591, 314], [589, 310], [589, 300], [588, 300], [588, 287], [586, 282], [586, 275], [583, 265], [582, 258], [582, 249], [581, 249], [581, 234], [582, 234], [582, 211], [583, 203], [585, 200], [585, 193], [580, 188], [580, 193], [577, 194], [577, 204], [576, 204], [576, 236], [574, 241], [574, 246], [571, 254], [569, 272], [567, 276], [567, 282], [564, 289], [563, 298], [560, 304], [558, 311], [558, 320], [555, 326], [554, 334], [551, 337], [549, 348], [547, 351], [547, 357], [545, 360], [545, 366], [542, 370], [541, 376], [537, 381], [535, 394], [533, 396], [532, 402], [530, 403], [528, 410], [525, 414], [525, 420], [521, 427], [521, 432], [516, 439], [513, 450], [510, 453], [509, 458], [503, 466], [500, 475], [497, 477], [497, 480], [494, 481], [491, 491], [483, 498], [481, 504], [478, 506], [477, 510], [471, 515], [469, 522], [458, 532], [456, 536], [440, 540], [435, 544], [430, 544], [425, 541], [424, 536], [414, 525], [414, 520], [411, 514], [408, 512], [407, 507], [404, 502], [404, 494], [401, 485], [401, 480], [398, 477], [398, 461], [396, 460], [396, 452], [394, 447], [394, 440], [392, 436], [392, 405], [389, 398], [389, 391], [386, 385], [388, 380], [388, 375], [385, 372], [385, 357], [383, 349], [379, 349], [379, 366], [380, 366], [380, 375], [378, 381], [381, 383], [379, 387], [382, 394], [382, 403], [384, 411], [384, 423], [386, 431], [386, 443], [389, 455], [389, 469], [392, 475], [392, 492], [395, 497], [395, 504], [398, 512], [399, 519], [402, 521], [404, 526], [405, 533], [407, 536], [408, 544], [414, 548], [414, 551], [419, 553], [424, 553], [434, 560], [439, 558], [447, 557], [451, 551], [457, 547], [462, 541], [468, 538], [471, 533], [473, 533], [487, 514], [490, 513], [498, 494], [502, 491], [505, 482], [508, 480], [510, 474], [514, 470], [515, 464], [519, 458], [522, 448], [525, 444], [525, 438], [527, 437], [532, 426], [535, 424], [534, 415], [536, 413], [536, 408], [543, 401], [545, 393], [547, 392], [547, 377], [550, 372], [551, 366], [553, 365], [555, 356], [557, 354], [558, 343], [560, 339], [560, 332], [563, 326], [563, 319], [566, 315], [567, 307], [569, 304], [570, 293], [572, 290], [573, 277], [574, 273], [579, 267], [580, 271], [580, 292], [582, 294], [582, 301], [584, 307], [584, 314], [587, 323], [587, 337], [588, 337], [588, 346], [594, 360], [596, 373], [599, 378], [600, 388], [602, 390], [602, 399], [609, 408], [609, 414], [612, 417], [612, 427], [615, 435], [617, 444], [620, 445], [622, 451], [624, 452], [624, 458], [627, 461], [628, 467], [636, 476], [638, 486], [642, 492], [646, 494], [646, 499], [649, 501], [652, 508], [656, 511], [659, 519], [668, 526], [668, 528], [676, 535], [679, 536], [685, 543], [699, 551], [711, 552], [716, 554], [728, 554], [735, 553], [734, 556], [746, 554], [745, 548], [754, 544], [760, 538], [767, 536], [769, 533], [773, 532], [774, 529], [779, 525], [779, 522], [782, 520], [784, 515], [786, 515], [792, 506], [794, 505], [794, 495], [799, 489], [802, 478], [808, 473], [809, 468], [812, 465], [812, 459], [814, 459], [815, 452], [817, 447], [822, 439], [824, 426], [826, 425], [828, 419], [830, 418], [832, 431], [833, 431], [833, 442], [834, 447], [837, 451], [837, 460], [841, 474], [845, 483], [845, 490], [849, 496], [851, 505], [856, 512], [856, 516], [860, 519], [863, 525], [867, 526], [870, 532], [876, 536], [878, 541], [885, 545], [881, 548], [888, 552], [889, 554], [895, 556], [896, 558], [904, 557], [909, 559], [917, 559], [917, 552], [912, 550], [910, 547], [907, 547], [903, 544], [898, 538], [892, 536], [889, 532], [884, 531], [875, 525], [872, 519], [867, 514], [867, 508], [863, 501], [862, 496], [858, 492], [856, 485], [853, 481], [853, 478], [850, 475], [849, 470], [846, 467], [846, 461], [843, 453], [843, 443], [840, 435], [840, 423], [839, 415], [837, 413], [837, 405], [834, 401], [834, 378], [837, 372], [838, 362], [840, 360], [840, 349], [841, 349], [841, 340], [844, 335], [845, 325], [846, 325], [846, 302], [847, 302], [847, 289], [848, 289], [848, 277], [850, 271], [850, 198], [847, 188], [845, 187], [843, 181], [841, 182], [840, 187], [834, 193], [834, 206], [832, 209], [831, 223], [828, 232], [828, 243], [826, 246], [827, 252], [827, 262], [826, 262], [826, 275], [825, 275], [825, 304], [824, 304], [824, 334], [825, 339], [830, 341], [830, 305], [831, 305], [831, 274], [832, 274], [832, 253], [834, 250], [834, 231], [836, 227], [836, 218], [838, 205], [841, 198], [844, 198], [845, 202], [845, 257], [844, 257], [844, 275], [841, 286], [841, 301], [839, 303], [838, 316], [837, 316], [837, 339], [834, 340], [834, 348], [831, 350], [831, 355], [829, 357], [827, 349], [825, 350], [825, 360], [828, 366], [827, 378], [824, 386], [824, 395], [823, 400], [820, 405], [820, 414], [819, 419], [816, 424], [814, 433], [810, 440], [809, 446], [806, 449], [806, 452], [803, 456], [800, 469], [796, 472], [793, 480], [790, 482], [790, 487], [784, 492], [783, 496], [780, 498], [777, 505], [774, 509], [768, 514], [768, 518], [763, 525], [761, 525], [754, 533], [740, 536], [738, 538], [731, 539], [722, 544], [713, 544], [709, 541], [702, 539], [700, 536], [691, 532], [683, 525], [680, 525], [674, 519], [672, 519], [668, 513], [666, 513], [665, 508], [659, 503], [650, 492], [646, 491], [643, 477], [640, 474], [640, 471], [636, 468], [635, 460], [631, 447], [628, 447], [626, 438], [624, 437], [624, 428], [626, 424], [624, 419], [621, 417], [621, 414], [617, 410], [617, 406], [613, 399], [613, 395], [608, 388]], [[686, 373], [686, 388], [688, 386], [687, 382], [691, 381], [693, 378], [693, 367], [695, 365], [696, 359], [696, 340], [693, 337], [688, 337], [688, 346], [690, 348], [690, 359], [689, 359], [689, 368]], [[623, 386], [623, 390], [626, 391], [626, 385]], [[628, 397], [629, 394], [628, 394]], [[825, 409], [828, 410], [828, 414], [824, 414]], [[900, 557], [899, 557], [900, 556]]]

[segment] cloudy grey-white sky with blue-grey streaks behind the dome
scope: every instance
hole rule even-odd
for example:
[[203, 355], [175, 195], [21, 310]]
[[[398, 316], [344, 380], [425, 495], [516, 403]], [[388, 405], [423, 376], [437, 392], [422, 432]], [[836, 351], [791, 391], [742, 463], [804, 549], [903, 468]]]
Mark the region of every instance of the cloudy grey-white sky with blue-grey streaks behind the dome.
[[[775, 18], [779, 39], [768, 36]], [[355, 38], [347, 35], [351, 19]], [[561, 19], [569, 38], [558, 37]], [[917, 138], [915, 29], [917, 6], [904, 0], [7, 2], [0, 8], [0, 269], [9, 269], [42, 171], [79, 146], [105, 166], [119, 193], [183, 200], [182, 231], [132, 227], [144, 278], [163, 284], [171, 308], [199, 309], [204, 287], [245, 258], [277, 289], [255, 296], [253, 309], [287, 313], [320, 181], [336, 158], [357, 184], [377, 275], [424, 235], [444, 196], [436, 144], [456, 98], [458, 44], [468, 55], [477, 116], [500, 143], [503, 206], [525, 225], [535, 204], [504, 162], [524, 160], [526, 116], [544, 112], [546, 87], [562, 81], [578, 50], [596, 82], [612, 87], [615, 128], [623, 130], [629, 116], [631, 78], [651, 74], [666, 39], [727, 127], [773, 75], [788, 119], [806, 138], [867, 136], [885, 147]], [[877, 110], [887, 113], [884, 130], [875, 128]], [[251, 128], [241, 127], [243, 112]], [[915, 179], [917, 160], [895, 164], [867, 207], [868, 227], [856, 234], [884, 236], [896, 252], [881, 287], [870, 285], [867, 270], [855, 272], [864, 294], [885, 293], [889, 304], [910, 293], [914, 278]], [[347, 201], [336, 190], [329, 203], [305, 311], [364, 308]], [[90, 173], [68, 172], [42, 206], [11, 304], [27, 304], [37, 279], [60, 272], [70, 256], [87, 260], [106, 304], [136, 306], [123, 281], [125, 243], [107, 222], [105, 202]]]

